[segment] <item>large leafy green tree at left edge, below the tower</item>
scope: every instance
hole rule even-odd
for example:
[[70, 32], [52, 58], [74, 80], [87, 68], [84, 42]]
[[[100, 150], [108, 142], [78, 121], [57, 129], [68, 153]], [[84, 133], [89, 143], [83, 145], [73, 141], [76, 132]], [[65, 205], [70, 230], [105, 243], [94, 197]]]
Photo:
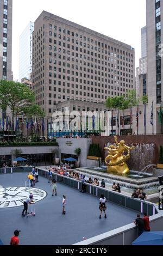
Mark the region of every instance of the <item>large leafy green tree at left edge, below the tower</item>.
[[[24, 107], [22, 101], [26, 101], [29, 106]], [[42, 113], [41, 108], [36, 106], [34, 101], [34, 92], [32, 92], [26, 84], [14, 81], [0, 81], [0, 108], [5, 111], [5, 109], [9, 107], [11, 109], [13, 120], [18, 114], [35, 114], [36, 109]]]

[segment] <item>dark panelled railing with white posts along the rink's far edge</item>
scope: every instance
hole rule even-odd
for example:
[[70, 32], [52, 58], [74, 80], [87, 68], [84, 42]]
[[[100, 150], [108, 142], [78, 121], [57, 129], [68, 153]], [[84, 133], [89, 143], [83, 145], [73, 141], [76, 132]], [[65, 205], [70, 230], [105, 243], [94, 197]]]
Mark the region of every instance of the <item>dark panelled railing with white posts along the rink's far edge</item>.
[[[8, 174], [8, 173], [19, 173], [19, 172], [30, 172], [32, 167], [20, 166], [20, 167], [6, 167], [0, 168], [0, 174]], [[39, 175], [48, 178], [48, 170], [37, 168]], [[73, 171], [73, 170], [71, 170]], [[75, 180], [69, 178], [67, 176], [63, 176], [57, 173], [53, 173], [53, 177], [57, 182], [65, 184], [69, 187], [76, 188], [77, 190], [82, 190], [82, 182], [80, 180]], [[148, 216], [152, 216], [158, 214], [158, 210], [156, 209], [156, 204], [143, 201], [140, 199], [130, 198], [124, 194], [114, 192], [111, 190], [107, 190], [106, 188], [102, 188], [99, 186], [91, 185], [89, 183], [86, 184], [86, 192], [92, 194], [93, 196], [100, 197], [101, 194], [104, 194], [104, 197], [109, 202], [115, 203], [117, 205], [123, 206], [127, 209], [134, 210], [136, 212], [146, 212]]]

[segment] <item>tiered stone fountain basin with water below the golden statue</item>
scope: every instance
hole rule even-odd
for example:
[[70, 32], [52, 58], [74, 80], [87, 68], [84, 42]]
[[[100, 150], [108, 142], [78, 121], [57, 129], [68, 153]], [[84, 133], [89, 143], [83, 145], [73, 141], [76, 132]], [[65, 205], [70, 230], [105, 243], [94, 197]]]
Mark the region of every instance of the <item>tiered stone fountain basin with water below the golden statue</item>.
[[[104, 179], [104, 181], [108, 184], [112, 184], [113, 182], [120, 183], [120, 186], [137, 189], [137, 188], [151, 188], [151, 187], [158, 187], [159, 186], [159, 180], [156, 176], [149, 176], [144, 175], [142, 178], [141, 174], [138, 175], [137, 172], [130, 172], [127, 175], [115, 175], [115, 174], [109, 174], [104, 172], [98, 172], [97, 167], [88, 167], [88, 168], [77, 168], [79, 172], [85, 173], [88, 176], [91, 176], [92, 178], [96, 177], [98, 179]], [[129, 177], [129, 175], [133, 175], [132, 178]]]

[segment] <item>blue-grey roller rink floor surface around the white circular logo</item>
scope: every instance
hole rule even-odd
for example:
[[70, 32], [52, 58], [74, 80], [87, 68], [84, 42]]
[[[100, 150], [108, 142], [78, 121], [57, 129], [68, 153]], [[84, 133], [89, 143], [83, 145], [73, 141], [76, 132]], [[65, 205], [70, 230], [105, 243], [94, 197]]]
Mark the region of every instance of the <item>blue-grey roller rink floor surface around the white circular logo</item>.
[[[24, 187], [27, 173], [0, 175], [3, 187]], [[57, 184], [57, 196], [52, 197], [48, 180], [39, 177], [36, 188], [47, 192], [47, 197], [36, 203], [36, 215], [21, 217], [23, 206], [0, 209], [0, 239], [9, 245], [15, 229], [21, 230], [20, 245], [72, 245], [106, 231], [133, 222], [136, 212], [106, 203], [107, 218], [99, 220], [99, 198], [80, 193], [64, 184]], [[66, 215], [62, 215], [62, 195], [67, 196]], [[0, 198], [1, 201], [1, 198]]]

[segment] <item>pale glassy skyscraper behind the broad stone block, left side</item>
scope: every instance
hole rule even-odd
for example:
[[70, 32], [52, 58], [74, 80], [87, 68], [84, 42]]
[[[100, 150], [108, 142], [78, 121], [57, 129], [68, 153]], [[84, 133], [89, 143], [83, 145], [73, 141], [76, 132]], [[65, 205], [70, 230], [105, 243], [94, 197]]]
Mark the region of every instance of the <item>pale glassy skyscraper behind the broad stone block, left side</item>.
[[19, 80], [22, 78], [30, 79], [32, 72], [32, 33], [34, 22], [30, 21], [28, 26], [20, 35], [19, 45]]

